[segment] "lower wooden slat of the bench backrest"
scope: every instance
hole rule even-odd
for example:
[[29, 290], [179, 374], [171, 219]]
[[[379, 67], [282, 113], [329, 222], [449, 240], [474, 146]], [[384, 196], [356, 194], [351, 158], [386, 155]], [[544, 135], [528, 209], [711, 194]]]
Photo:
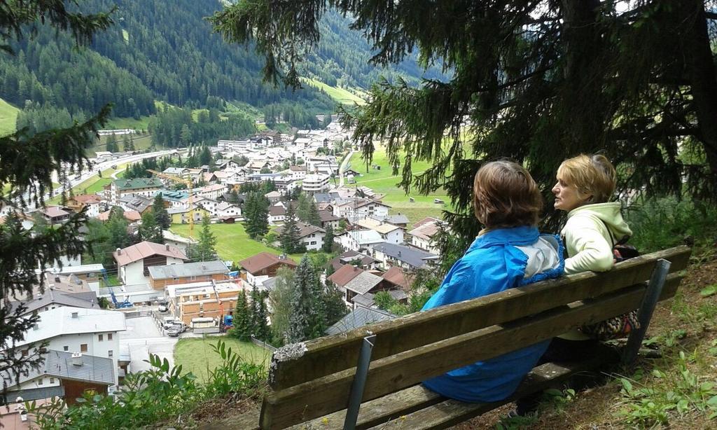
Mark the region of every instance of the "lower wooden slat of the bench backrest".
[[[508, 353], [516, 345], [549, 339], [574, 325], [598, 322], [640, 305], [645, 284], [541, 315], [493, 325], [371, 363], [364, 400], [399, 391], [476, 360]], [[263, 429], [281, 429], [346, 408], [353, 369], [270, 394], [262, 405]]]

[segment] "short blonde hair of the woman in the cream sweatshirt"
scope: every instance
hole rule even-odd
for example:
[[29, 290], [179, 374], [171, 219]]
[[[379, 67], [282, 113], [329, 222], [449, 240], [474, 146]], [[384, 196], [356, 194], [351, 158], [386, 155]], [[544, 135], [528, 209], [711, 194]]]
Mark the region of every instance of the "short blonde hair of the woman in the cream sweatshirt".
[[590, 196], [588, 203], [609, 201], [617, 183], [614, 166], [602, 154], [580, 154], [568, 158], [558, 168], [558, 175], [577, 189], [579, 197]]

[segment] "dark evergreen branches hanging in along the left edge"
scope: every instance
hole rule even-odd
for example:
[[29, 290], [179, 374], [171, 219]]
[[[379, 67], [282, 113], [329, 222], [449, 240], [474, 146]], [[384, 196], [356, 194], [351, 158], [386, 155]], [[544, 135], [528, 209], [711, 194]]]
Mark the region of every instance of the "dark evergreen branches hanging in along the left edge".
[[[63, 1], [11, 1], [4, 2], [0, 12], [0, 51], [10, 61], [14, 54], [14, 42], [21, 42], [25, 32], [32, 31], [37, 19], [42, 16], [44, 24], [65, 34], [67, 31], [78, 44], [92, 41], [92, 35], [112, 24], [108, 14], [82, 14], [75, 4], [65, 9]], [[22, 60], [24, 62], [24, 60]], [[74, 78], [74, 77], [73, 77]], [[3, 90], [6, 87], [3, 86]], [[32, 135], [19, 130], [0, 136], [0, 205], [9, 211], [5, 222], [0, 224], [0, 378], [3, 381], [19, 380], [32, 369], [39, 369], [44, 361], [44, 346], [25, 346], [24, 352], [16, 346], [24, 339], [24, 333], [32, 330], [39, 321], [39, 315], [27, 314], [27, 306], [20, 303], [11, 308], [6, 301], [11, 297], [29, 295], [32, 297], [40, 272], [62, 256], [76, 256], [85, 252], [87, 243], [80, 234], [87, 216], [84, 212], [72, 214], [65, 223], [52, 229], [28, 231], [24, 229], [17, 212], [27, 209], [29, 202], [44, 206], [44, 196], [52, 192], [52, 173], [64, 172], [70, 168], [86, 166], [85, 151], [98, 138], [98, 128], [105, 125], [110, 109], [105, 106], [97, 116], [71, 125], [51, 130], [48, 133]], [[38, 154], [42, 156], [38, 156]], [[62, 176], [64, 176], [61, 173]], [[9, 192], [7, 188], [9, 188]], [[40, 291], [44, 282], [40, 280]], [[4, 390], [4, 387], [3, 387]]]

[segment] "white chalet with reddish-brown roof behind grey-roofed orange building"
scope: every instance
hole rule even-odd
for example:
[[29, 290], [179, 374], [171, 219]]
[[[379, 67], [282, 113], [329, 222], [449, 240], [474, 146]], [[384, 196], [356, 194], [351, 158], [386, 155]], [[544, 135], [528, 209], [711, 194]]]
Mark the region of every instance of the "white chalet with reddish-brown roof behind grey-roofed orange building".
[[184, 252], [168, 244], [140, 242], [112, 253], [118, 267], [118, 277], [127, 285], [148, 284], [149, 268], [168, 264], [184, 264], [189, 259]]

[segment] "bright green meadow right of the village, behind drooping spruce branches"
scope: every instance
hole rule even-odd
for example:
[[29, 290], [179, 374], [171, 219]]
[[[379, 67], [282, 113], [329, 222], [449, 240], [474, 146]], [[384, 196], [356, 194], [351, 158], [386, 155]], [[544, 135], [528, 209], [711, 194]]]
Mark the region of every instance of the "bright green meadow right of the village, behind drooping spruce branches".
[[[381, 170], [376, 170], [373, 166], [381, 166]], [[429, 168], [429, 166], [430, 163], [428, 161], [414, 161], [411, 167], [415, 174], [421, 173]], [[351, 169], [362, 175], [356, 178], [357, 185], [364, 185], [376, 193], [385, 194], [383, 202], [391, 206], [389, 213], [405, 214], [411, 224], [424, 219], [426, 216], [441, 218], [442, 209], [447, 208], [447, 206], [443, 204], [433, 203], [433, 199], [442, 199], [448, 203], [448, 196], [442, 189], [428, 196], [415, 193], [406, 195], [404, 190], [396, 185], [401, 181], [401, 171], [399, 170], [398, 176], [394, 176], [384, 148], [376, 148], [374, 160], [371, 162], [371, 166], [369, 166], [369, 171], [366, 171], [366, 163], [360, 154], [354, 153], [351, 157]], [[413, 202], [410, 201], [411, 197], [414, 199]]]

